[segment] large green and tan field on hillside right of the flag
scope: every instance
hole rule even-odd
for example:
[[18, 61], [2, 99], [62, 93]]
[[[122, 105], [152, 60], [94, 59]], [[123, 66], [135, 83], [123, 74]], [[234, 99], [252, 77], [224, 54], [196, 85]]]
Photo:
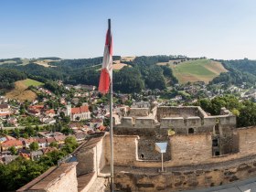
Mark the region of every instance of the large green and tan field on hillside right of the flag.
[[220, 62], [208, 59], [187, 60], [177, 65], [171, 64], [170, 67], [180, 83], [188, 81], [204, 81], [208, 83], [219, 76], [221, 72], [228, 71]]

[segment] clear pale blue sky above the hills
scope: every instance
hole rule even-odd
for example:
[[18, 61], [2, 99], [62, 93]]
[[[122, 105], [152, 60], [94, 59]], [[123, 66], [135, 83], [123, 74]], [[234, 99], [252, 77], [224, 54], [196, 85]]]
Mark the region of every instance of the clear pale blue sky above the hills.
[[2, 0], [0, 59], [113, 55], [256, 59], [255, 0]]

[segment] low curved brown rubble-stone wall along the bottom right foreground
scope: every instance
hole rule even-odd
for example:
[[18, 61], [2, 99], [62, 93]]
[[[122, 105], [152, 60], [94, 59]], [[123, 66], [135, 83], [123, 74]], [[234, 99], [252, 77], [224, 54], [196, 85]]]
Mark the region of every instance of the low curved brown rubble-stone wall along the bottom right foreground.
[[165, 173], [157, 169], [121, 169], [123, 172], [115, 173], [115, 183], [123, 191], [179, 191], [216, 187], [256, 176], [256, 160], [254, 156], [221, 165], [177, 167]]

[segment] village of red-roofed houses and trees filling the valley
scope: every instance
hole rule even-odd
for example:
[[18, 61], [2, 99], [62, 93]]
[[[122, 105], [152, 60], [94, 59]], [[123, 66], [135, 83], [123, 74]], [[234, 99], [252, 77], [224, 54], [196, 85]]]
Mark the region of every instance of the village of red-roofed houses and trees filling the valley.
[[[3, 164], [18, 156], [35, 160], [65, 144], [67, 137], [74, 137], [78, 144], [91, 134], [109, 131], [110, 111], [108, 97], [102, 96], [89, 85], [64, 85], [58, 81], [62, 91], [55, 94], [44, 87], [31, 87], [37, 92], [37, 100], [9, 100], [0, 98], [1, 155]], [[60, 89], [60, 90], [61, 90]], [[226, 92], [208, 91], [205, 83], [178, 85], [171, 91], [148, 90], [133, 94], [114, 94], [114, 124], [129, 112], [130, 108], [158, 106], [182, 106], [197, 98], [212, 99], [227, 93], [240, 94], [240, 100], [254, 100], [256, 91], [231, 86]], [[166, 97], [167, 96], [167, 97]], [[167, 98], [167, 99], [166, 99]]]

